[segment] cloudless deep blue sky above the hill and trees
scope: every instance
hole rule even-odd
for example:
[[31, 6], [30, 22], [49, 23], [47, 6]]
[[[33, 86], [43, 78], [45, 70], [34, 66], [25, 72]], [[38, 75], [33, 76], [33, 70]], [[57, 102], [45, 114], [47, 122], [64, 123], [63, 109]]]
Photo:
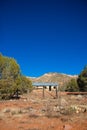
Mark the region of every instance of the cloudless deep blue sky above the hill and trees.
[[79, 74], [87, 64], [87, 0], [0, 0], [0, 52], [26, 76]]

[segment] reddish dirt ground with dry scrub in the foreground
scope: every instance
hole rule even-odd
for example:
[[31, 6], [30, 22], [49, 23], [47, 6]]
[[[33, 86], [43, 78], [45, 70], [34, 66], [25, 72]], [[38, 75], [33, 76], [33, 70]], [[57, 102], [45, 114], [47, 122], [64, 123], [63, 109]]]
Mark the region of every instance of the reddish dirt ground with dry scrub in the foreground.
[[[80, 109], [77, 109], [80, 108]], [[0, 101], [0, 130], [87, 130], [87, 95], [34, 90], [19, 100]]]

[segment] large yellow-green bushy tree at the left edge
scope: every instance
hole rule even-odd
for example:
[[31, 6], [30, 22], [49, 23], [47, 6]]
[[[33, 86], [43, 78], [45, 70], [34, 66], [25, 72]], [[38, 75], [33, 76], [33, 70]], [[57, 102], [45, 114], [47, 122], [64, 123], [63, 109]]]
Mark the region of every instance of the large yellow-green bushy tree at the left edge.
[[20, 66], [14, 58], [0, 54], [0, 96], [11, 97], [17, 90], [25, 92], [31, 89], [32, 83], [21, 74]]

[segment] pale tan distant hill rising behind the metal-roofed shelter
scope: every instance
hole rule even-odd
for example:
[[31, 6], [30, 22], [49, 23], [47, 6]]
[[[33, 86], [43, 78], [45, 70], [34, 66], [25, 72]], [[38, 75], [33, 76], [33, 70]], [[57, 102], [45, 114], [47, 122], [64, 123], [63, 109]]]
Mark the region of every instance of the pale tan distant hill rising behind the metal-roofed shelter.
[[64, 83], [67, 83], [72, 78], [77, 78], [77, 75], [67, 75], [62, 73], [46, 73], [40, 77], [33, 78], [29, 77], [32, 82], [57, 82], [59, 86], [62, 86]]

